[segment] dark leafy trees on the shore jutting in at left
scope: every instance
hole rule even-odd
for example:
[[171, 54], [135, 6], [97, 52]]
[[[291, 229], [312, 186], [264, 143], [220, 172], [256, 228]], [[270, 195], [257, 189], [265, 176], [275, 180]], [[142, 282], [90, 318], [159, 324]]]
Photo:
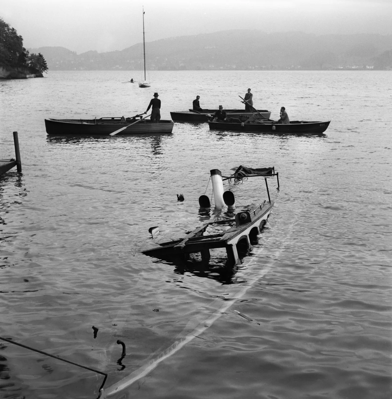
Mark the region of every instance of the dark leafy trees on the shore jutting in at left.
[[48, 70], [41, 53], [29, 54], [23, 47], [23, 38], [0, 18], [0, 66], [8, 68], [30, 67], [40, 73]]

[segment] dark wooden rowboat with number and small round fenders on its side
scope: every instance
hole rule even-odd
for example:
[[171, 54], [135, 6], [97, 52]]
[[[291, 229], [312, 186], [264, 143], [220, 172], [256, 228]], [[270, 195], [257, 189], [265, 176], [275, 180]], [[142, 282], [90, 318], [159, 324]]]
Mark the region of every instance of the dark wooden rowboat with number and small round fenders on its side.
[[272, 120], [257, 122], [208, 122], [211, 130], [235, 130], [240, 132], [257, 132], [267, 134], [322, 134], [327, 130], [330, 120], [325, 122], [308, 122], [294, 120], [289, 124], [280, 124]]

